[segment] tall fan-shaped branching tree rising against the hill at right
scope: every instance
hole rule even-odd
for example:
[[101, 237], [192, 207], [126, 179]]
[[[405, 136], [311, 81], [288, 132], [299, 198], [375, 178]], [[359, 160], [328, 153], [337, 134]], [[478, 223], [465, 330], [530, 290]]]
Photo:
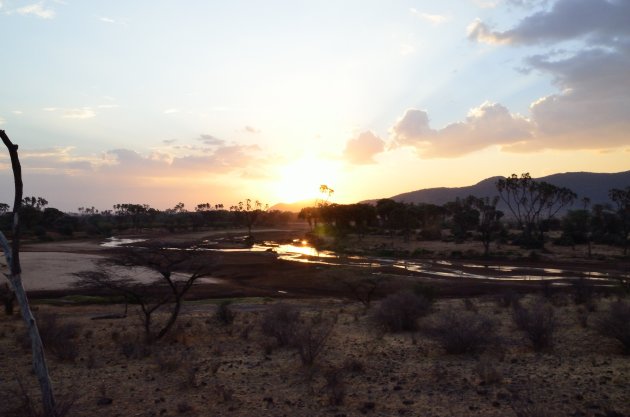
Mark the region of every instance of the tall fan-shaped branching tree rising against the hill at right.
[[568, 188], [534, 181], [529, 173], [502, 178], [497, 181], [496, 187], [501, 200], [523, 229], [525, 246], [542, 247], [543, 225], [577, 198]]

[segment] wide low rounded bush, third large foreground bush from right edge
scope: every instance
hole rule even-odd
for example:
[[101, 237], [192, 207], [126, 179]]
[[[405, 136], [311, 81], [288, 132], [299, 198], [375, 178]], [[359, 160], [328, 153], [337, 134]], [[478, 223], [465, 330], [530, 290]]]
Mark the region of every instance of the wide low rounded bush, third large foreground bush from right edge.
[[429, 336], [450, 354], [479, 352], [497, 342], [494, 323], [470, 311], [448, 310], [440, 313]]

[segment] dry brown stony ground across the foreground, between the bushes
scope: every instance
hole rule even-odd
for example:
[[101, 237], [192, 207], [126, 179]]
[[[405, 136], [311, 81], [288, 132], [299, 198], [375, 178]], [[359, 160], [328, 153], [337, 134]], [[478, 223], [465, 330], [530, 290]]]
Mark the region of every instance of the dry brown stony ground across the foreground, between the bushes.
[[[40, 323], [71, 327], [55, 333], [64, 336], [48, 358], [59, 397], [74, 400], [74, 416], [630, 415], [630, 357], [596, 331], [611, 300], [579, 314], [583, 307], [569, 301], [554, 299], [555, 343], [534, 352], [512, 310], [494, 297], [439, 300], [420, 330], [396, 334], [375, 325], [378, 303], [365, 310], [330, 298], [287, 300], [302, 328], [332, 325], [312, 365], [263, 334], [273, 301], [231, 305], [229, 324], [217, 320], [215, 305], [188, 304], [170, 337], [151, 346], [135, 313], [91, 320], [122, 306], [40, 305], [37, 315]], [[447, 354], [429, 337], [426, 329], [446, 311], [478, 311], [494, 323], [497, 335], [488, 336], [484, 353]], [[26, 415], [17, 380], [34, 402], [38, 391], [15, 317], [0, 317], [0, 352], [0, 415]]]

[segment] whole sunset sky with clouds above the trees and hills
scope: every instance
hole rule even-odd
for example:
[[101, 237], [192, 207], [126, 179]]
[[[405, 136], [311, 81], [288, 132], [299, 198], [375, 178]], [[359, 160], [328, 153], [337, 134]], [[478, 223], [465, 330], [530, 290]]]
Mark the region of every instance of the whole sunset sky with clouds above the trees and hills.
[[628, 0], [0, 0], [0, 51], [25, 195], [64, 211], [630, 170]]

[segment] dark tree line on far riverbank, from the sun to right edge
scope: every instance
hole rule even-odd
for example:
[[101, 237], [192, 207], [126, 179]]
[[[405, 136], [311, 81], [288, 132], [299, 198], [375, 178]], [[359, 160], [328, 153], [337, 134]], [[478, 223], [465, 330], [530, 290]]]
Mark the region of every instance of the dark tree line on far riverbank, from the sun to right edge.
[[[308, 222], [314, 235], [343, 238], [367, 233], [386, 234], [404, 241], [478, 240], [484, 254], [495, 241], [525, 248], [543, 248], [548, 232], [558, 231], [560, 245], [603, 243], [628, 253], [630, 233], [630, 186], [609, 190], [610, 203], [579, 200], [581, 208], [568, 207], [578, 196], [566, 187], [536, 181], [529, 174], [512, 174], [496, 182], [495, 196], [468, 196], [443, 205], [405, 203], [381, 199], [376, 204], [320, 203], [302, 209], [298, 218]], [[498, 208], [499, 202], [506, 207]], [[564, 211], [563, 211], [564, 210]], [[559, 214], [563, 214], [559, 216]], [[517, 231], [514, 233], [514, 231]]]

